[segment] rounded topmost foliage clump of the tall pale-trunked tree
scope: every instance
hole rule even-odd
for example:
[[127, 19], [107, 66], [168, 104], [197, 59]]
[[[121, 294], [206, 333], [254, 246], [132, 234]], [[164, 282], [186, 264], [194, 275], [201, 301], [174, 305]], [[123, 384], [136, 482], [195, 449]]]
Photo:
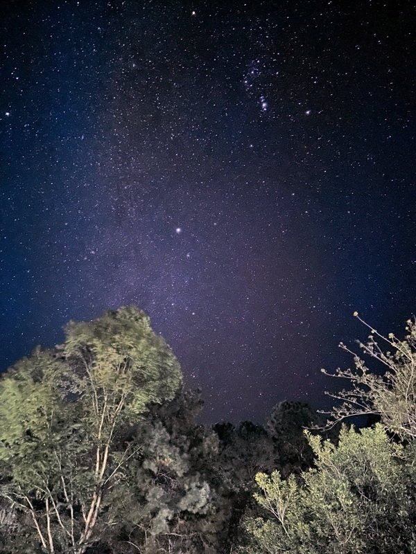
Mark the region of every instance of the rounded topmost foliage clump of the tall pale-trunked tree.
[[[95, 413], [94, 401], [105, 395], [123, 397], [127, 415], [143, 413], [150, 402], [171, 399], [182, 374], [162, 337], [150, 328], [150, 320], [134, 306], [106, 312], [89, 323], [70, 322], [66, 328], [64, 355], [78, 369], [74, 390], [87, 397], [85, 410]], [[85, 377], [87, 377], [85, 381]]]

